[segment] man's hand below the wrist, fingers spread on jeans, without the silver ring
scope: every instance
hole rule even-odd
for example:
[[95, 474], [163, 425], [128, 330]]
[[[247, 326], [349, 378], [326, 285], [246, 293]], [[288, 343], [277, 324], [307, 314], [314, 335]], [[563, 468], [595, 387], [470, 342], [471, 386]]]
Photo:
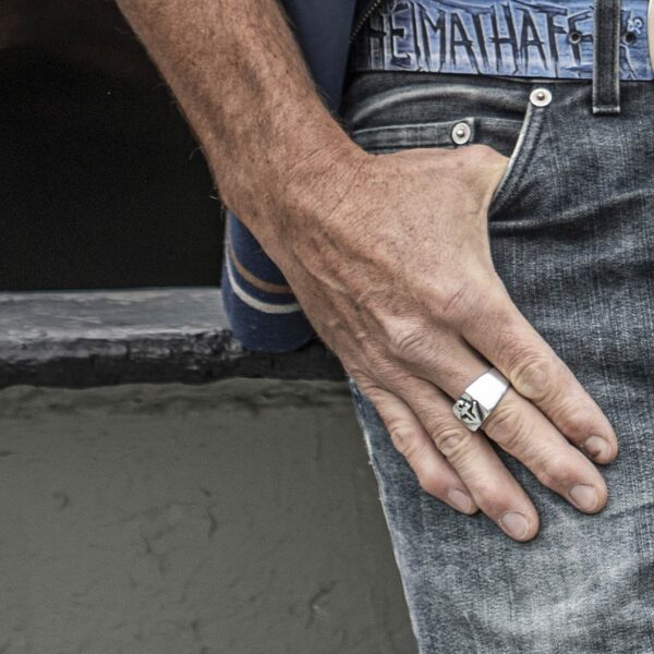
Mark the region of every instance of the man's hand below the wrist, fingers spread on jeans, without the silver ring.
[[[537, 512], [488, 441], [582, 511], [607, 498], [611, 426], [497, 276], [487, 208], [507, 158], [483, 145], [367, 156], [340, 204], [314, 208], [283, 271], [320, 337], [375, 404], [421, 486], [477, 507], [519, 541]], [[489, 364], [512, 384], [472, 433], [452, 398]]]

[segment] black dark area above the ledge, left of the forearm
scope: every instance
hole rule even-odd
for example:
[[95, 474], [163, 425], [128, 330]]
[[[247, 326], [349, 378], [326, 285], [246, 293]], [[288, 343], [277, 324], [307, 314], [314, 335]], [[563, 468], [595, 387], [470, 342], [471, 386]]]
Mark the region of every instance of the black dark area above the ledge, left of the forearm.
[[117, 7], [0, 12], [0, 290], [218, 284], [206, 162]]

